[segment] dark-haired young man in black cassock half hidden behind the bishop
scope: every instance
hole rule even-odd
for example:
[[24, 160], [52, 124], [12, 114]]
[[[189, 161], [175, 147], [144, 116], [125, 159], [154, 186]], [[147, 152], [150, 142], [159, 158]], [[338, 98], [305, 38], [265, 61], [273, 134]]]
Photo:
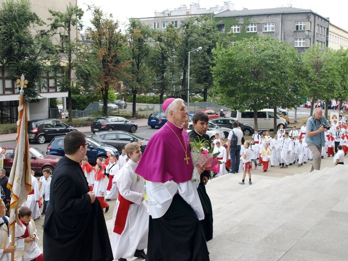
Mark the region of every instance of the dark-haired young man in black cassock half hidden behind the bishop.
[[[197, 111], [192, 117], [194, 129], [189, 133], [190, 141], [207, 141], [209, 146], [209, 136], [206, 134], [208, 129], [209, 117], [203, 111]], [[213, 234], [213, 216], [212, 207], [208, 194], [205, 190], [205, 185], [210, 177], [209, 171], [203, 171], [200, 175], [200, 183], [197, 188], [199, 199], [202, 203], [204, 211], [204, 219], [201, 220], [205, 240], [209, 241]]]

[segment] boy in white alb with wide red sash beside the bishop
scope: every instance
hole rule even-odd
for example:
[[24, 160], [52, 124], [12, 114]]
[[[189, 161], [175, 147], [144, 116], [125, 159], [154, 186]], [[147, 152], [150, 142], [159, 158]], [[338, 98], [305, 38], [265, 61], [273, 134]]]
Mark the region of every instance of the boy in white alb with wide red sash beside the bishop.
[[115, 176], [119, 196], [112, 216], [111, 247], [113, 258], [119, 261], [127, 261], [126, 258], [133, 256], [145, 259], [144, 248], [147, 247], [149, 232], [144, 179], [135, 173], [142, 156], [140, 146], [129, 143], [125, 150], [129, 161]]

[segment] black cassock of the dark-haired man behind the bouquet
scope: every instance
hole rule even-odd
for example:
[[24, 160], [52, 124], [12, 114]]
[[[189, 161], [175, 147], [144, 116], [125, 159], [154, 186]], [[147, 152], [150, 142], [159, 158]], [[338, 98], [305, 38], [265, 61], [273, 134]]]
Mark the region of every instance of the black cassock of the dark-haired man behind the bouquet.
[[[194, 129], [189, 133], [189, 136], [190, 136], [191, 142], [193, 141], [199, 142], [199, 141], [206, 140], [209, 143], [209, 136], [207, 134], [203, 134], [202, 136], [200, 136], [194, 131]], [[209, 171], [203, 171], [203, 173], [200, 175], [200, 183], [197, 188], [197, 192], [198, 192], [200, 202], [202, 203], [203, 212], [204, 212], [204, 219], [201, 220], [200, 222], [203, 228], [205, 240], [209, 241], [212, 238], [212, 234], [213, 234], [213, 216], [212, 216], [211, 201], [208, 194], [206, 193], [205, 185], [202, 182], [204, 176], [209, 179], [210, 177]]]

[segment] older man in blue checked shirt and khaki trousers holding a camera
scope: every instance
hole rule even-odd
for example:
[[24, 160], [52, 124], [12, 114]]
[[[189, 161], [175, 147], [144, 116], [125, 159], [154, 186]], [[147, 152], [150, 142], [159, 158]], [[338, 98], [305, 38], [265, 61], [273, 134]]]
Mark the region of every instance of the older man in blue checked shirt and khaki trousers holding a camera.
[[313, 170], [320, 170], [321, 148], [325, 146], [325, 131], [329, 129], [329, 123], [322, 115], [320, 107], [315, 108], [314, 115], [307, 120], [306, 143], [313, 154]]

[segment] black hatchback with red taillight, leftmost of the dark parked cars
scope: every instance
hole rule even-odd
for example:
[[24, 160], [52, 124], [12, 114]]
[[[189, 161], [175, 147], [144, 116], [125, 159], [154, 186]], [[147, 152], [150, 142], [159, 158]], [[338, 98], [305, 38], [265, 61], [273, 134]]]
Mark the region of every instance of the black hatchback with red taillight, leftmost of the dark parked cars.
[[44, 144], [51, 141], [54, 137], [62, 136], [72, 131], [77, 131], [77, 129], [59, 119], [35, 119], [28, 121], [29, 141], [36, 141], [38, 144]]

